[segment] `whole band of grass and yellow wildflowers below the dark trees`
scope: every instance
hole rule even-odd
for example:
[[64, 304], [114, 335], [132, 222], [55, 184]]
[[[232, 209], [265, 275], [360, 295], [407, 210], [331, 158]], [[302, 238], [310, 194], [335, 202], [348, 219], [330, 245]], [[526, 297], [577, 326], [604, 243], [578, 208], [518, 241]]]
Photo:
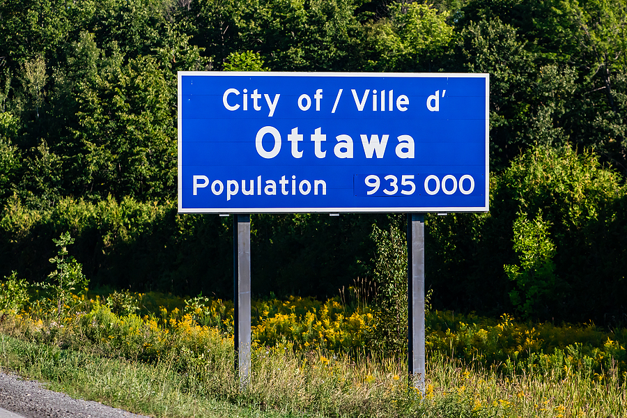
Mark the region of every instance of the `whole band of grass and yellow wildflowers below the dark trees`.
[[365, 281], [343, 292], [343, 300], [254, 300], [251, 374], [242, 387], [233, 366], [232, 302], [88, 293], [75, 287], [81, 265], [64, 256], [71, 241], [56, 240], [52, 284], [31, 286], [15, 276], [2, 282], [0, 366], [76, 396], [158, 417], [627, 412], [627, 330], [591, 323], [429, 311], [426, 387], [424, 393], [409, 387], [402, 350], [373, 350], [394, 341], [381, 332], [385, 308], [364, 297]]

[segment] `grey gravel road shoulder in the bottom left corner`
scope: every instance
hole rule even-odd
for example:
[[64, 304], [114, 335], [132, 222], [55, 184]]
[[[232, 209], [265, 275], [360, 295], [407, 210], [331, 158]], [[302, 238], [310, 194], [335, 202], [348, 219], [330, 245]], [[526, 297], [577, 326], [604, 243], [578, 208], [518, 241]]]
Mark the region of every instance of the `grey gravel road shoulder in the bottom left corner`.
[[[1, 372], [0, 408], [26, 418], [146, 418], [102, 403], [52, 392], [40, 382]], [[0, 410], [0, 417], [1, 414]]]

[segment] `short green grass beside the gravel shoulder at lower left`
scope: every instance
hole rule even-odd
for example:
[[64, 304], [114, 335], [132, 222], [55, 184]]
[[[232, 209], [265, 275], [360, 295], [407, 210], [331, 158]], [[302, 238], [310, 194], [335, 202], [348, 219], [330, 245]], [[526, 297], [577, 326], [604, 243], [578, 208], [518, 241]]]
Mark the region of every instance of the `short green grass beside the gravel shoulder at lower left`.
[[49, 389], [75, 398], [154, 417], [294, 417], [198, 396], [173, 370], [172, 358], [149, 365], [62, 350], [3, 334], [0, 341], [0, 371], [15, 371], [25, 378], [49, 382]]

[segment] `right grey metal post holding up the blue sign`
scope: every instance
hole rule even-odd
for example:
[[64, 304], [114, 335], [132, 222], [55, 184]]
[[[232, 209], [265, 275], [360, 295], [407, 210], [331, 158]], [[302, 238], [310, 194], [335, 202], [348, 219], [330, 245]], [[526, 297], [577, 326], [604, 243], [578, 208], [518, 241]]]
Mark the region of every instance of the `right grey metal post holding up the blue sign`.
[[407, 215], [407, 363], [410, 385], [424, 394], [424, 214]]

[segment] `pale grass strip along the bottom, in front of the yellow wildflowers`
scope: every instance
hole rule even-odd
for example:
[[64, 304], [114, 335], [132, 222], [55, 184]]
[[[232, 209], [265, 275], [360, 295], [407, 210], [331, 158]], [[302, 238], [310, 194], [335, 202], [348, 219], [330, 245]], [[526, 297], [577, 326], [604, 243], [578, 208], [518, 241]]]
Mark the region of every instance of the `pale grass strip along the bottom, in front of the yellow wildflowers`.
[[[617, 374], [584, 371], [504, 377], [441, 356], [428, 358], [426, 393], [408, 389], [403, 365], [258, 349], [240, 389], [231, 359], [179, 355], [157, 362], [102, 357], [2, 335], [0, 367], [52, 382], [52, 389], [155, 417], [624, 417]], [[227, 341], [228, 342], [228, 341]], [[219, 351], [208, 346], [207, 352]], [[312, 356], [316, 356], [316, 358]], [[309, 357], [308, 357], [309, 356]], [[226, 359], [226, 357], [224, 357]]]

